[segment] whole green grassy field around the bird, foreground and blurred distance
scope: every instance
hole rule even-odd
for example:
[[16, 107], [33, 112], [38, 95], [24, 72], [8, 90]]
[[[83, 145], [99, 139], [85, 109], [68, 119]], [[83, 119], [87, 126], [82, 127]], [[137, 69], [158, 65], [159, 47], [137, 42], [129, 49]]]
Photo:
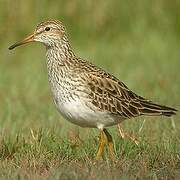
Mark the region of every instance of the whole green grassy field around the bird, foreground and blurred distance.
[[0, 47], [0, 179], [179, 179], [179, 113], [170, 119], [124, 121], [122, 126], [137, 137], [139, 146], [121, 139], [117, 127], [109, 128], [115, 162], [106, 151], [95, 163], [98, 131], [74, 126], [58, 114], [42, 45], [7, 49], [29, 33], [36, 20], [63, 16], [79, 56], [113, 73], [136, 93], [179, 109], [179, 2], [106, 0], [98, 1], [98, 7], [103, 6], [96, 9], [88, 1], [82, 7], [80, 1], [59, 1], [61, 12], [44, 2], [48, 15], [37, 11], [39, 4], [30, 13], [34, 1], [21, 5], [17, 13], [7, 1], [3, 5], [8, 11], [1, 11], [1, 22], [7, 23], [0, 34], [5, 28], [9, 36], [1, 36]]

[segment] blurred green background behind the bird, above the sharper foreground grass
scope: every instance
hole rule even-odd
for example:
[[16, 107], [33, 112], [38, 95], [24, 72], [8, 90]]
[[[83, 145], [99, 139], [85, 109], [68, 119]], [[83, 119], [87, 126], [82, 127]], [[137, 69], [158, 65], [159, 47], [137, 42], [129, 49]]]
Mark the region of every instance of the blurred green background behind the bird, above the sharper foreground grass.
[[[33, 43], [8, 50], [47, 19], [64, 22], [78, 56], [113, 73], [136, 93], [179, 107], [180, 1], [0, 0], [1, 134], [26, 134], [30, 128], [60, 131], [66, 124], [52, 103], [45, 48]], [[158, 130], [164, 127], [159, 119], [146, 124], [153, 122], [150, 127]], [[124, 124], [133, 130], [136, 123]]]

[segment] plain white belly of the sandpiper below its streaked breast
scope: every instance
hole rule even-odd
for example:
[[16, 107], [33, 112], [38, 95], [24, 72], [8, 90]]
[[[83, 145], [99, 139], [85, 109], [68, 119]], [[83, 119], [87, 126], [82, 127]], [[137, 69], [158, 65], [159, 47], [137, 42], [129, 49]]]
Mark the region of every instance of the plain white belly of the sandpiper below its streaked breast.
[[56, 99], [55, 104], [58, 111], [70, 122], [81, 127], [94, 127], [102, 129], [119, 123], [117, 116], [112, 116], [101, 111], [94, 111], [79, 98], [61, 102]]

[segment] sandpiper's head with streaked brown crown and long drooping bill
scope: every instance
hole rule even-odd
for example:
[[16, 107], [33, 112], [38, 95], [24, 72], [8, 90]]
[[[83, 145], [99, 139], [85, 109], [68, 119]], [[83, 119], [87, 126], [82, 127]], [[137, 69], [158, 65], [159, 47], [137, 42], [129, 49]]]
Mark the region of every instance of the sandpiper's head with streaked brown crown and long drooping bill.
[[16, 42], [9, 49], [14, 49], [17, 46], [29, 43], [29, 42], [41, 42], [47, 47], [51, 47], [61, 41], [66, 40], [65, 27], [58, 20], [49, 20], [37, 25], [35, 31], [27, 36], [22, 41]]

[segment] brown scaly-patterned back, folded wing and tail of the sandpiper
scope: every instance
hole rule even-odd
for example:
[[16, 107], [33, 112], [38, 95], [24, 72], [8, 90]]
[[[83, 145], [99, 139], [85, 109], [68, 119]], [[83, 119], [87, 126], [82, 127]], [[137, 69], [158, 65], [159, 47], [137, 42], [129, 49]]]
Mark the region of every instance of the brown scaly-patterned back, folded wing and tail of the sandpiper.
[[99, 111], [107, 111], [125, 118], [176, 114], [176, 109], [153, 103], [137, 95], [115, 76], [94, 64], [82, 59], [78, 59], [78, 62], [77, 67], [82, 71], [80, 74], [90, 89], [91, 102]]

